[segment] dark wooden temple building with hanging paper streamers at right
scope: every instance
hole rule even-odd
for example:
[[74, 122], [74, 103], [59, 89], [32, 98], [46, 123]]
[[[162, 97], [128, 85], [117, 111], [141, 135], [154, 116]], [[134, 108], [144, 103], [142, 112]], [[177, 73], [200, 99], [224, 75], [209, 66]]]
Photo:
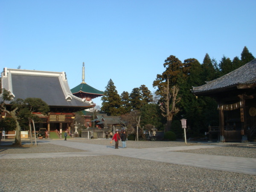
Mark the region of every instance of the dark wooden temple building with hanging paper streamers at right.
[[256, 139], [256, 59], [218, 79], [193, 87], [192, 93], [210, 96], [218, 102], [217, 131], [221, 141]]

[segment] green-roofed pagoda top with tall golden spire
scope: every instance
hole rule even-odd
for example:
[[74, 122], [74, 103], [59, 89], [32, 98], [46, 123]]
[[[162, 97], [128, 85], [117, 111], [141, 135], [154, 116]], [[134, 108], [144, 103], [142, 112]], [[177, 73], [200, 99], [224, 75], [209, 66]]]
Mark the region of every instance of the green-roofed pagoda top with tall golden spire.
[[97, 90], [87, 83], [84, 82], [84, 63], [82, 68], [82, 82], [81, 84], [77, 85], [73, 89], [71, 89], [71, 92], [74, 96], [77, 96], [85, 101], [91, 102], [92, 99], [103, 96], [103, 91]]

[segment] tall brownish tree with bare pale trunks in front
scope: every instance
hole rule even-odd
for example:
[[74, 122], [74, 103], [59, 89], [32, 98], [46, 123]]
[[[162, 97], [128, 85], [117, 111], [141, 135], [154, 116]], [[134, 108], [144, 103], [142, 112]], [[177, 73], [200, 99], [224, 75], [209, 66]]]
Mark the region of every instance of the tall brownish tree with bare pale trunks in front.
[[166, 70], [153, 82], [153, 87], [157, 87], [157, 94], [161, 95], [162, 115], [166, 117], [165, 131], [171, 130], [172, 118], [179, 112], [177, 103], [180, 102], [178, 80], [183, 78], [183, 63], [174, 55], [166, 58], [163, 66]]

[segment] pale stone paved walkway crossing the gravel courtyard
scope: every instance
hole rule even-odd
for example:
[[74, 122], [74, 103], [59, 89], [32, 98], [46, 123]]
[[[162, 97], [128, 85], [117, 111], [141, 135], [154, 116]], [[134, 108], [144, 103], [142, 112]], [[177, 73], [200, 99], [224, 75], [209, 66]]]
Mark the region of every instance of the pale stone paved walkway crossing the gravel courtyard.
[[96, 155], [119, 155], [143, 160], [172, 163], [178, 165], [195, 166], [207, 169], [222, 170], [256, 175], [256, 159], [243, 157], [229, 157], [219, 155], [192, 154], [175, 152], [197, 148], [214, 148], [216, 145], [191, 145], [163, 148], [119, 148], [108, 145], [94, 145], [64, 140], [46, 140], [41, 143], [50, 143], [84, 150], [84, 152], [64, 153], [35, 153], [35, 154], [0, 154], [0, 159], [23, 158], [51, 158], [51, 157], [85, 157]]

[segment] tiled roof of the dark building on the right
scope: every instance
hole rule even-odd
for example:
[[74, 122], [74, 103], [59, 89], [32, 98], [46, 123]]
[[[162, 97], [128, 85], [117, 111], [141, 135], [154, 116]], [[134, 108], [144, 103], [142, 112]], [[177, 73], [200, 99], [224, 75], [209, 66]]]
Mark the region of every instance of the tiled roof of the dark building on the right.
[[218, 79], [207, 82], [207, 84], [193, 87], [192, 93], [201, 94], [212, 91], [218, 92], [238, 85], [250, 84], [256, 84], [256, 59], [253, 59], [249, 63], [244, 64], [242, 67], [239, 67]]

